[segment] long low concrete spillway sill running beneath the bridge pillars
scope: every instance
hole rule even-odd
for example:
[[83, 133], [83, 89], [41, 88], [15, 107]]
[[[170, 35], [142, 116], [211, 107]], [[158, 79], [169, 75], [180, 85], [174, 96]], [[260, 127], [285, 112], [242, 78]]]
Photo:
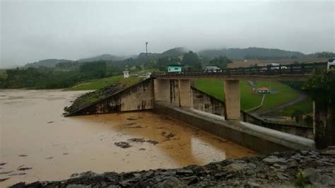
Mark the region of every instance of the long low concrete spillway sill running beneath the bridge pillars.
[[206, 112], [195, 112], [189, 108], [173, 106], [169, 102], [155, 102], [155, 112], [167, 114], [170, 117], [192, 124], [194, 127], [262, 154], [274, 151], [314, 148], [314, 141], [311, 139], [245, 122], [226, 122], [221, 116]]

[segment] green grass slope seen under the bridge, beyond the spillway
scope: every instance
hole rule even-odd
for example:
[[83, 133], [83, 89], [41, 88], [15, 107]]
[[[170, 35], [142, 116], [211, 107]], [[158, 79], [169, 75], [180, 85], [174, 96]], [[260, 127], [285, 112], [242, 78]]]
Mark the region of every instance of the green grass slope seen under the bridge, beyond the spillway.
[[[223, 100], [223, 81], [222, 80], [196, 80], [194, 85], [199, 90], [212, 95], [219, 100]], [[289, 86], [279, 83], [278, 81], [257, 81], [257, 86], [268, 87], [277, 90], [277, 93], [266, 95], [264, 105], [260, 110], [266, 110], [271, 107], [282, 105], [285, 102], [293, 100], [298, 96], [298, 92]], [[252, 87], [247, 81], [240, 81], [241, 88], [241, 109], [248, 110], [256, 107], [261, 102], [262, 95], [254, 93]]]

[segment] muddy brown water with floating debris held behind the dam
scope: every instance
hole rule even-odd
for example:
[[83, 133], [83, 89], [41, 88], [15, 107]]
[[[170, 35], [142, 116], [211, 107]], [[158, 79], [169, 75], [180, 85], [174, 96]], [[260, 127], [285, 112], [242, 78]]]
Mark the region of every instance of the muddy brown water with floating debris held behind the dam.
[[0, 187], [88, 170], [180, 168], [256, 155], [151, 111], [63, 117], [63, 108], [85, 92], [0, 90]]

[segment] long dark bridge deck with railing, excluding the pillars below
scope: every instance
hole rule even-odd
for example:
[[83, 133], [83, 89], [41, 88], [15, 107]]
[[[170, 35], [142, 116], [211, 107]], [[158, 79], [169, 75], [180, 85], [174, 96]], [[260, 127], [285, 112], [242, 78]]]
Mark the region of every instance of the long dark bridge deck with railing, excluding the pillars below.
[[280, 76], [280, 75], [298, 75], [298, 74], [312, 74], [316, 68], [327, 69], [327, 62], [325, 63], [311, 63], [311, 64], [288, 64], [279, 66], [250, 66], [223, 69], [220, 72], [206, 72], [206, 71], [188, 71], [188, 72], [165, 72], [153, 73], [152, 78], [157, 77], [187, 77], [187, 76]]

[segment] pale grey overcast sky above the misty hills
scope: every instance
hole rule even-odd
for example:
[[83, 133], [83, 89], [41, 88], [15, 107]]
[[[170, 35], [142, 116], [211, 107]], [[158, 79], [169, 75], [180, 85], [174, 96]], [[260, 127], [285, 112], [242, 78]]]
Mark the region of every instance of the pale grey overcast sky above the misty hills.
[[271, 47], [334, 52], [334, 1], [1, 1], [0, 67], [98, 54]]

